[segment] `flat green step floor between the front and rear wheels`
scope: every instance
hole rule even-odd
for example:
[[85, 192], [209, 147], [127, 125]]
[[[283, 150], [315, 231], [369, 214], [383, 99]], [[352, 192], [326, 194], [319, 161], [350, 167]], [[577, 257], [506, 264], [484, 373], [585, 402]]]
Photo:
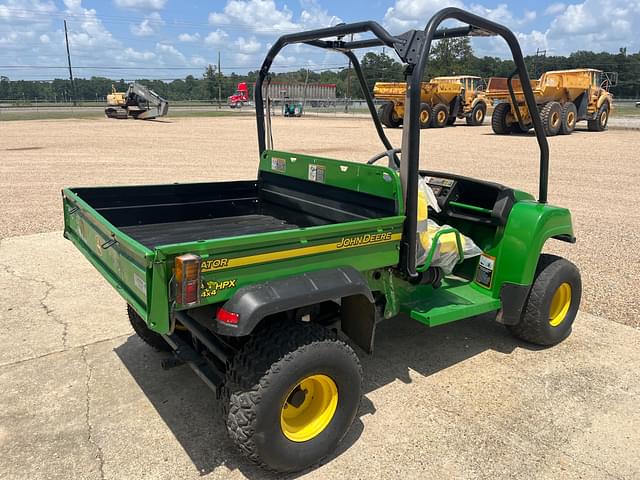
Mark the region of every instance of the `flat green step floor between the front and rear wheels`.
[[471, 282], [445, 279], [440, 288], [420, 285], [404, 301], [401, 310], [430, 327], [475, 317], [500, 309], [501, 303]]

